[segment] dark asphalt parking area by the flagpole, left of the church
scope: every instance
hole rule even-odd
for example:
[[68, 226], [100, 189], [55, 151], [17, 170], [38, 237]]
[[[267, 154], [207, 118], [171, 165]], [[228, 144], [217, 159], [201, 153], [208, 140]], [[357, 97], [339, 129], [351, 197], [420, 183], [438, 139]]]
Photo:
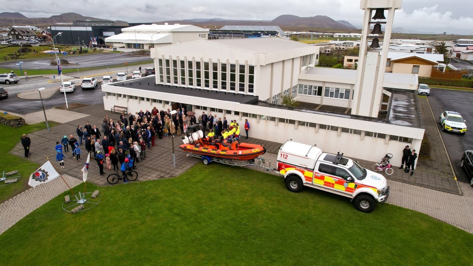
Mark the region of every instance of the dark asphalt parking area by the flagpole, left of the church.
[[[54, 86], [58, 85], [59, 84], [55, 84]], [[103, 96], [105, 96], [105, 93], [102, 92], [102, 88], [100, 86], [97, 86], [95, 90], [82, 90], [79, 86], [79, 88], [76, 88], [74, 93], [66, 94], [67, 102], [69, 104], [104, 104]], [[64, 94], [58, 91], [51, 98], [44, 99], [43, 103], [44, 109], [50, 109], [56, 106], [65, 105], [66, 101], [64, 99]], [[43, 107], [41, 106], [41, 100], [25, 100], [18, 98], [17, 95], [10, 95], [8, 99], [1, 100], [0, 106], [2, 110], [19, 114], [27, 114], [43, 110]]]

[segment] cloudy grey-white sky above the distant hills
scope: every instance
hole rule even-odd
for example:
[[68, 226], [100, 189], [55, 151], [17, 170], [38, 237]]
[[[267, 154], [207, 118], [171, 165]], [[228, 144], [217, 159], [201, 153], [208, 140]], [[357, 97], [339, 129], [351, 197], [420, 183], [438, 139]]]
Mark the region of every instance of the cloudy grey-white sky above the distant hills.
[[[325, 15], [361, 26], [359, 0], [7, 0], [2, 11], [26, 17], [50, 17], [66, 12], [127, 22], [156, 22], [192, 18], [272, 20], [280, 15]], [[473, 35], [472, 0], [403, 0], [394, 27], [447, 34]]]

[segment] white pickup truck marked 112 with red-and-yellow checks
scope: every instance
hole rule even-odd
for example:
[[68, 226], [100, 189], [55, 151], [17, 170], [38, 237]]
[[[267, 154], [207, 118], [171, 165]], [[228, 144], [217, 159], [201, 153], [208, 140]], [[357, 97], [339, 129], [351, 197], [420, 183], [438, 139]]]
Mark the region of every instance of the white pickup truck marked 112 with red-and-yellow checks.
[[389, 196], [381, 174], [364, 169], [343, 154], [323, 153], [315, 146], [292, 140], [279, 149], [278, 171], [292, 192], [306, 186], [349, 197], [365, 213], [372, 212], [376, 202], [385, 202]]

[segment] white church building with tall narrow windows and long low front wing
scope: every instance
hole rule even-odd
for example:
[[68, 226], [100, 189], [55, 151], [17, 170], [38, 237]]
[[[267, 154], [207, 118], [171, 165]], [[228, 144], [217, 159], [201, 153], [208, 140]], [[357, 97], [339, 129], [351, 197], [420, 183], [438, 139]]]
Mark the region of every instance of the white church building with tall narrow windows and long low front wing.
[[[370, 161], [406, 145], [419, 151], [424, 127], [417, 75], [378, 71], [379, 51], [360, 54], [358, 70], [329, 69], [315, 67], [318, 47], [278, 37], [179, 43], [151, 49], [156, 76], [102, 85], [104, 105], [133, 113], [189, 106], [242, 127], [248, 119], [250, 137], [292, 138]], [[284, 106], [283, 97], [300, 105]], [[391, 163], [400, 165], [400, 157]]]

